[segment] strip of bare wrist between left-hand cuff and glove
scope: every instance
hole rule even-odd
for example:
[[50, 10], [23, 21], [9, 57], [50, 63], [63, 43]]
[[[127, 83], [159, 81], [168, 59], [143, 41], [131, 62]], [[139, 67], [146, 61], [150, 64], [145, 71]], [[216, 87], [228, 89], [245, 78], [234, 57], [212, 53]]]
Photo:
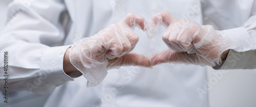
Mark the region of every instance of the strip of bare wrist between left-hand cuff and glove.
[[65, 52], [64, 58], [63, 58], [63, 71], [67, 74], [67, 75], [71, 75], [73, 73], [79, 73], [80, 75], [82, 75], [82, 73], [80, 73], [70, 62], [69, 60], [69, 53], [70, 53], [70, 48], [68, 48]]

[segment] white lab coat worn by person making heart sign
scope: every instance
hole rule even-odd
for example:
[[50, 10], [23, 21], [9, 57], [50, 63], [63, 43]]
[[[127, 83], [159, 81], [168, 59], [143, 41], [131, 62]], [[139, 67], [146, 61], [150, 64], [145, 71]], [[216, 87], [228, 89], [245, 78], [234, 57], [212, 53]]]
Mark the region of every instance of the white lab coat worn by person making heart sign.
[[[250, 40], [256, 37], [255, 6], [254, 0], [15, 1], [9, 5], [8, 23], [0, 35], [1, 53], [9, 52], [9, 91], [50, 93], [31, 100], [37, 106], [208, 106], [207, 90], [198, 92], [207, 87], [205, 67], [172, 63], [153, 69], [121, 67], [109, 70], [97, 87], [86, 88], [83, 76], [72, 78], [63, 72], [63, 54], [75, 41], [119, 22], [127, 13], [140, 14], [148, 20], [157, 12], [168, 11], [201, 25], [208, 17], [207, 22], [220, 30], [229, 29], [225, 31], [227, 36], [239, 47], [230, 51], [227, 60], [216, 69], [232, 69], [238, 66], [228, 63], [234, 59], [231, 54], [246, 51], [239, 54], [240, 60], [256, 62], [248, 59], [255, 57], [255, 41]], [[159, 28], [156, 36], [148, 39], [145, 32], [135, 29], [140, 40], [133, 52], [148, 55], [166, 50], [161, 39], [164, 30]], [[256, 68], [240, 61], [235, 64], [242, 69]], [[1, 61], [0, 69], [3, 65]], [[0, 77], [4, 78], [3, 74]], [[17, 105], [22, 104], [26, 103]]]

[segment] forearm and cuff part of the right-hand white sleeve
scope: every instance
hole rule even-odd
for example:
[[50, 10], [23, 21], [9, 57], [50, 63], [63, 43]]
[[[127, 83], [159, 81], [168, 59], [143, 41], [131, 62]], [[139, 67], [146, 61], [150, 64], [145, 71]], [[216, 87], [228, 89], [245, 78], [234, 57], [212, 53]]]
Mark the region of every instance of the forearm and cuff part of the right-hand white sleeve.
[[239, 28], [224, 30], [237, 44], [230, 50], [224, 63], [214, 69], [256, 69], [256, 2], [250, 18]]

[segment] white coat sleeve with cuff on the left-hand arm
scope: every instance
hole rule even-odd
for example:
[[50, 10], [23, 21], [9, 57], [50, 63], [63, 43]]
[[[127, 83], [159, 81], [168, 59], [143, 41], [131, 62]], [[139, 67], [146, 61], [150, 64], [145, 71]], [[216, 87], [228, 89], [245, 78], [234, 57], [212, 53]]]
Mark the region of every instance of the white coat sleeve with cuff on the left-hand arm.
[[[60, 46], [65, 33], [60, 23], [66, 11], [61, 1], [14, 1], [8, 6], [7, 24], [0, 35], [1, 62], [8, 52], [8, 91], [52, 92], [73, 80], [63, 72], [63, 55], [70, 46]], [[9, 76], [4, 76], [9, 75]], [[2, 91], [6, 90], [0, 87]]]

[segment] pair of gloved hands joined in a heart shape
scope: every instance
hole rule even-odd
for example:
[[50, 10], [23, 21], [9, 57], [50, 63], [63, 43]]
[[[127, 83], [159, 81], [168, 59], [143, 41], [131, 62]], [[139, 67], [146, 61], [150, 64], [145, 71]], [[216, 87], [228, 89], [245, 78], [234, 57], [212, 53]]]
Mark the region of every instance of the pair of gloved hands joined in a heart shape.
[[[139, 40], [135, 27], [152, 38], [161, 25], [166, 28], [162, 39], [169, 50], [150, 58], [130, 53]], [[143, 16], [130, 13], [121, 22], [75, 42], [70, 49], [70, 62], [92, 87], [104, 79], [107, 70], [121, 66], [152, 67], [163, 62], [219, 65], [222, 53], [232, 48], [232, 41], [211, 26], [179, 20], [168, 12], [157, 13], [147, 23]]]

